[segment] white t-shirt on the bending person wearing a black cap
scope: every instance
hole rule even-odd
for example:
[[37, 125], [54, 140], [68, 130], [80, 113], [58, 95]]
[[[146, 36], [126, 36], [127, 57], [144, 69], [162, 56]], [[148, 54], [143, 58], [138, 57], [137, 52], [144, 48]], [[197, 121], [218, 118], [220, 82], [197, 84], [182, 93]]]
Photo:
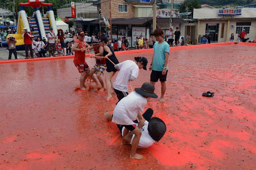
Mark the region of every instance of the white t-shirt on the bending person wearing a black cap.
[[134, 61], [126, 60], [117, 64], [119, 73], [116, 76], [116, 80], [113, 84], [113, 88], [119, 91], [128, 91], [128, 82], [131, 76], [136, 79], [139, 75], [139, 67]]

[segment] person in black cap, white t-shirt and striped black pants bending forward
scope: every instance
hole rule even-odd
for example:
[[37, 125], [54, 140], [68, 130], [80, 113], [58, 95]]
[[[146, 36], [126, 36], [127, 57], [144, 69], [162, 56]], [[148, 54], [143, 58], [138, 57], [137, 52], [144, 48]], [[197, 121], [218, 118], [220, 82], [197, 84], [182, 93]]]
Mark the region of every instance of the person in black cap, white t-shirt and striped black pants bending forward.
[[134, 57], [134, 60], [135, 62], [126, 60], [115, 65], [115, 68], [119, 70], [119, 73], [113, 83], [113, 88], [118, 98], [118, 102], [128, 95], [128, 82], [137, 79], [139, 69], [143, 68], [144, 70], [147, 70], [147, 58]]

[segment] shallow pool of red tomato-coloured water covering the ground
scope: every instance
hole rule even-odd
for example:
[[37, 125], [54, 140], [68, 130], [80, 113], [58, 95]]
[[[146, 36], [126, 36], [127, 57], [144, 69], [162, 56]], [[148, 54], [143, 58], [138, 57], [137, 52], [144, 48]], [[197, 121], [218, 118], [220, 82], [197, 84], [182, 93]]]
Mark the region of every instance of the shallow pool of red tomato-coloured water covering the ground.
[[[95, 84], [74, 92], [80, 75], [72, 58], [0, 64], [0, 169], [255, 169], [254, 49], [171, 48], [165, 103], [151, 99], [145, 107], [167, 131], [137, 150], [143, 160], [129, 158], [131, 146], [120, 145], [116, 125], [105, 121], [116, 96], [107, 102]], [[153, 52], [117, 58], [138, 55], [150, 62]], [[132, 87], [149, 81], [150, 71], [140, 70]], [[207, 91], [214, 97], [202, 97]]]

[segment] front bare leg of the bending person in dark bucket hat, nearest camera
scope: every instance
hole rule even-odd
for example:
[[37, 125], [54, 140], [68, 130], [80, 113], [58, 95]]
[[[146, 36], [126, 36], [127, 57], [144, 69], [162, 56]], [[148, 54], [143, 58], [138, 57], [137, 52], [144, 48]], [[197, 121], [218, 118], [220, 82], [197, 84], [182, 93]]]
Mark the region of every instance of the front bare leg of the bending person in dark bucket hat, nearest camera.
[[134, 136], [134, 138], [132, 140], [132, 143], [131, 143], [130, 158], [140, 160], [140, 159], [143, 158], [143, 156], [140, 155], [140, 154], [137, 154], [136, 150], [137, 150], [137, 147], [138, 147], [139, 142], [140, 142], [141, 131], [138, 127], [136, 127], [132, 132], [135, 134], [135, 136]]

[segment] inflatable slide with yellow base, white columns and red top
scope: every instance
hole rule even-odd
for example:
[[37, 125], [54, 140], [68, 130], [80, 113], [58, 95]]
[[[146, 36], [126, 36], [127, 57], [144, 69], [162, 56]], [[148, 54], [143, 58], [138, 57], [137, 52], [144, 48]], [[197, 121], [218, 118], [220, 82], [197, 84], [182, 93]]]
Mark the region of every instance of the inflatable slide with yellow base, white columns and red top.
[[[53, 28], [55, 35], [57, 34], [56, 21], [51, 8], [52, 4], [43, 3], [44, 1], [45, 0], [28, 0], [27, 3], [19, 3], [20, 12], [18, 16], [17, 33], [12, 34], [17, 40], [17, 50], [24, 49], [24, 40], [23, 37], [21, 37], [23, 28], [27, 28], [28, 31], [31, 32], [30, 28], [33, 27], [34, 37], [46, 37], [46, 35], [50, 32], [50, 27]], [[46, 12], [45, 16], [41, 16], [39, 7], [45, 6], [48, 7], [48, 11]], [[32, 17], [27, 17], [24, 10], [25, 7], [31, 7], [34, 9]]]

